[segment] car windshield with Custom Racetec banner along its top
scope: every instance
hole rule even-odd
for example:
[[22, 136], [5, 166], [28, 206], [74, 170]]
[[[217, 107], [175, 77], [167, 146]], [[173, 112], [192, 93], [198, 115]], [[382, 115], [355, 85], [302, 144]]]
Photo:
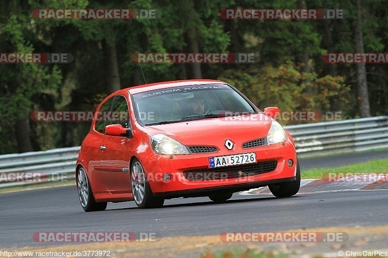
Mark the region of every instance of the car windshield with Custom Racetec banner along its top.
[[144, 125], [256, 113], [225, 84], [205, 84], [146, 91], [133, 95], [137, 120]]

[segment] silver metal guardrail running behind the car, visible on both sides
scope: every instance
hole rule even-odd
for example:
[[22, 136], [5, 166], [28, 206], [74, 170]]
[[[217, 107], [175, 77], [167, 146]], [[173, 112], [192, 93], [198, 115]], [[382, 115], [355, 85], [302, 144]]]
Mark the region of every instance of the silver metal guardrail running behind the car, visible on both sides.
[[[388, 148], [388, 116], [319, 122], [284, 127], [295, 140], [298, 157], [329, 153], [358, 152]], [[41, 181], [64, 176], [75, 178], [75, 164], [80, 147], [0, 155], [0, 188], [34, 182], [4, 182], [4, 175], [38, 173]], [[31, 181], [31, 180], [30, 180]]]

